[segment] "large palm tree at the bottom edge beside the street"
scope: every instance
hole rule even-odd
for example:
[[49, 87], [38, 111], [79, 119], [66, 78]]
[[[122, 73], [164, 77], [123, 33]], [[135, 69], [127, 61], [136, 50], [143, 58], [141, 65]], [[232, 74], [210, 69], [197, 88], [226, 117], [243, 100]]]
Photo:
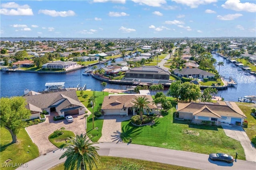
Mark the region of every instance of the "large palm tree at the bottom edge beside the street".
[[66, 158], [64, 163], [64, 170], [74, 169], [76, 170], [87, 170], [89, 167], [92, 170], [93, 166], [96, 166], [96, 161], [100, 162], [99, 154], [97, 152], [98, 147], [92, 145], [96, 144], [91, 142], [86, 135], [76, 135], [76, 137], [69, 137], [70, 143], [67, 143], [67, 150], [60, 156]]

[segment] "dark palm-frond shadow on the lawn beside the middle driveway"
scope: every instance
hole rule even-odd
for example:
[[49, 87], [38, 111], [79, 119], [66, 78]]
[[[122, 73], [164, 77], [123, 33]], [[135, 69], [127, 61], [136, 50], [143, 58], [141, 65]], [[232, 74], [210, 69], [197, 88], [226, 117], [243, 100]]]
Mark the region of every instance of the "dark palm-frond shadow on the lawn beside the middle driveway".
[[126, 126], [122, 127], [122, 133], [120, 133], [120, 139], [124, 142], [129, 142], [131, 139], [136, 139], [142, 132], [143, 127], [137, 127], [128, 123]]

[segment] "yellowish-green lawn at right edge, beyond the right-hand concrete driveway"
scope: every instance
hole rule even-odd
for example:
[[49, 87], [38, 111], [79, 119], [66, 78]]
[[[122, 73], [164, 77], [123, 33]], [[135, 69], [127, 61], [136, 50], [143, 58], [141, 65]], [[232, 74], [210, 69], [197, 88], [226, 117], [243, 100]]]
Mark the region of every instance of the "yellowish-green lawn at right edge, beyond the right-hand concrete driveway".
[[[251, 140], [252, 137], [256, 135], [256, 118], [250, 114], [251, 108], [253, 108], [255, 104], [243, 103], [243, 102], [236, 102], [236, 104], [244, 112], [244, 114], [247, 117], [246, 120], [248, 121], [248, 127], [244, 128], [244, 130], [247, 136], [249, 137], [249, 139]], [[254, 144], [254, 147], [256, 147], [255, 144]]]

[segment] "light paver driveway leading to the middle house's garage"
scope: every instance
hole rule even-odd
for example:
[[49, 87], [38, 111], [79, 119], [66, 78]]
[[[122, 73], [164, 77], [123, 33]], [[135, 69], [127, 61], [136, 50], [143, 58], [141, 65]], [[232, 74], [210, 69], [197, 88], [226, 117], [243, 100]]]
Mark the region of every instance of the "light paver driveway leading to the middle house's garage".
[[130, 120], [131, 116], [123, 115], [104, 115], [100, 117], [104, 119], [102, 127], [102, 137], [98, 142], [122, 142], [120, 138], [121, 134], [121, 122]]

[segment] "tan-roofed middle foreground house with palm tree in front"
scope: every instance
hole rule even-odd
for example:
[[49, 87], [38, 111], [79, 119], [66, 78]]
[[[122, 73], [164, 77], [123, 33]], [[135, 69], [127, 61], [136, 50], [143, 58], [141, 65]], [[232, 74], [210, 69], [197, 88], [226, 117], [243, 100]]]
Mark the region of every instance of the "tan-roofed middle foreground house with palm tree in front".
[[[150, 104], [148, 107], [151, 109], [150, 113], [157, 113], [156, 105], [153, 104], [153, 99], [150, 95], [140, 95], [140, 94], [123, 94], [123, 95], [109, 95], [105, 96], [102, 109], [104, 110], [104, 115], [136, 115], [136, 110], [133, 108], [134, 99], [137, 97], [146, 97]], [[144, 114], [147, 114], [144, 110]]]

